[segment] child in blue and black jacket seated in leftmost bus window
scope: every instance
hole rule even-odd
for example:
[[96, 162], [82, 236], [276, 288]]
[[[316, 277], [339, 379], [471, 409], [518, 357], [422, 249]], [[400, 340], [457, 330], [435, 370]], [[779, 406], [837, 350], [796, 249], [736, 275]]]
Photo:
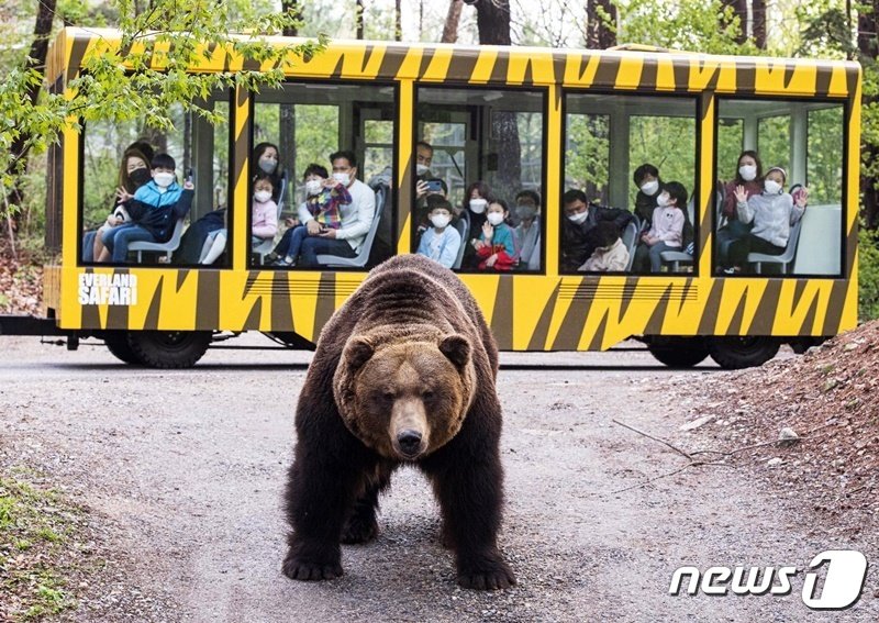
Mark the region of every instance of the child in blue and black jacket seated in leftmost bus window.
[[126, 262], [129, 245], [133, 242], [168, 242], [175, 223], [189, 212], [196, 187], [191, 180], [186, 180], [180, 188], [174, 174], [177, 166], [174, 158], [168, 154], [156, 154], [151, 166], [153, 179], [123, 203], [131, 222], [104, 233], [104, 259], [99, 262]]

